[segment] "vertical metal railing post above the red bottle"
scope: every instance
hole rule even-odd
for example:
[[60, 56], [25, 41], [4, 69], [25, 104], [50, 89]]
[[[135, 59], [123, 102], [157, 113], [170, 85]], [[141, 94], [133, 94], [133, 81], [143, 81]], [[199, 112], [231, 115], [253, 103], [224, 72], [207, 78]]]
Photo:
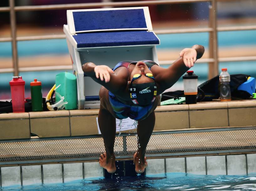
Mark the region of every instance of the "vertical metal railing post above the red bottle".
[[16, 41], [16, 16], [14, 10], [14, 0], [9, 0], [10, 6], [10, 22], [11, 22], [11, 37], [12, 37], [12, 54], [13, 54], [13, 70], [14, 76], [19, 75], [18, 67], [18, 52], [17, 52], [17, 41]]

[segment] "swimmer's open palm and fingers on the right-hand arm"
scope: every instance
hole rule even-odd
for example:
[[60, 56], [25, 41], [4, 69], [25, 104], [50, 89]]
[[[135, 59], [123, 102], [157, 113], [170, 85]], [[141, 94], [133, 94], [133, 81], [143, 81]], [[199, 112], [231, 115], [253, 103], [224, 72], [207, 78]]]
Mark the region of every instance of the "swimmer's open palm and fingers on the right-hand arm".
[[194, 66], [194, 63], [196, 61], [196, 49], [194, 48], [185, 48], [180, 52], [180, 57], [183, 58], [184, 64], [191, 68]]

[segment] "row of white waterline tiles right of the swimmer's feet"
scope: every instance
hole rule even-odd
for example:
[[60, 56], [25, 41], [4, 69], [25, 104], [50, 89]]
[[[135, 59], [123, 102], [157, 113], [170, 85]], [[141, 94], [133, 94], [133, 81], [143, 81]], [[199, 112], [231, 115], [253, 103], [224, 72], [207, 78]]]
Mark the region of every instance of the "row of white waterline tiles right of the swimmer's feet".
[[147, 159], [147, 175], [186, 172], [207, 175], [256, 173], [256, 154]]

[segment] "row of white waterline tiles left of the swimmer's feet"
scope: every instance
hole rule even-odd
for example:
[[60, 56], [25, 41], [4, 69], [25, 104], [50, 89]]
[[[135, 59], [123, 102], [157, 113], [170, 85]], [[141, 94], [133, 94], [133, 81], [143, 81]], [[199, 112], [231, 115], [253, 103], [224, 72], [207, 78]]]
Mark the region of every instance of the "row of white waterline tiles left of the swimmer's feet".
[[0, 186], [65, 183], [103, 177], [98, 162], [0, 167]]

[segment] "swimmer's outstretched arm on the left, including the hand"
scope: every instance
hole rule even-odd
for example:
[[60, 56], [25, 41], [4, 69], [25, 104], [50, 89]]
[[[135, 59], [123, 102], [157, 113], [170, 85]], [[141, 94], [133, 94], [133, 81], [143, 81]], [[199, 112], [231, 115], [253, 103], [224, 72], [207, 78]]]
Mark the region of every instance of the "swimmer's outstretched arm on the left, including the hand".
[[[120, 92], [123, 90], [127, 84], [128, 72], [127, 69], [125, 72], [114, 72], [112, 69], [106, 65], [95, 65], [92, 62], [87, 62], [82, 65], [82, 70], [86, 73], [87, 76], [91, 77], [94, 81], [101, 84], [107, 90], [115, 94], [115, 92]], [[127, 76], [126, 76], [126, 75]]]

